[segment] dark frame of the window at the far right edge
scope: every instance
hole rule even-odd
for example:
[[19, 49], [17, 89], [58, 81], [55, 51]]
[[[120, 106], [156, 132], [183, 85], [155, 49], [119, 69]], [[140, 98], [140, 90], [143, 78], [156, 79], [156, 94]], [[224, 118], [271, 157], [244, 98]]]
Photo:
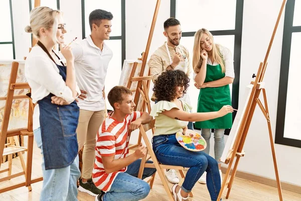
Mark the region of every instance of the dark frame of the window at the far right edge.
[[275, 144], [301, 148], [301, 140], [284, 137], [291, 36], [292, 33], [301, 32], [301, 26], [293, 26], [294, 5], [295, 5], [295, 0], [287, 0], [285, 6]]

